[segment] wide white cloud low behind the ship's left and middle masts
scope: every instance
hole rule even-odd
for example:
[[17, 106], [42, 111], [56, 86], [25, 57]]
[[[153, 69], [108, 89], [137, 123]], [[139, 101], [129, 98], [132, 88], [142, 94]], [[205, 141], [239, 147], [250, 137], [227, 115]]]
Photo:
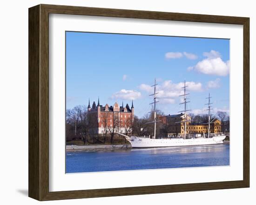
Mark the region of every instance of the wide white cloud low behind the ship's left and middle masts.
[[[188, 90], [197, 92], [202, 91], [202, 83], [186, 82], [186, 85], [189, 86], [187, 88]], [[157, 97], [161, 98], [161, 103], [174, 103], [175, 97], [178, 97], [183, 94], [183, 86], [184, 82], [173, 83], [171, 80], [164, 81], [157, 86]], [[148, 92], [148, 94], [154, 93], [154, 87], [151, 87], [150, 85], [141, 84], [139, 88], [140, 90]]]

